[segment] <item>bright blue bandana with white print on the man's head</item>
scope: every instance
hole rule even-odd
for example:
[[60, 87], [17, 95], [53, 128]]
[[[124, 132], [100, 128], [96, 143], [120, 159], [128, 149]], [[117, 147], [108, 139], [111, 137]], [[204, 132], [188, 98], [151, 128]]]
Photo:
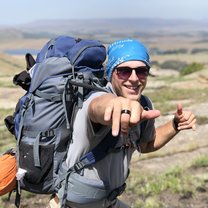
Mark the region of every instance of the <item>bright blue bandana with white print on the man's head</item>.
[[142, 61], [150, 67], [147, 49], [137, 40], [118, 40], [109, 45], [107, 53], [108, 61], [106, 66], [106, 74], [109, 81], [111, 80], [115, 67], [123, 62]]

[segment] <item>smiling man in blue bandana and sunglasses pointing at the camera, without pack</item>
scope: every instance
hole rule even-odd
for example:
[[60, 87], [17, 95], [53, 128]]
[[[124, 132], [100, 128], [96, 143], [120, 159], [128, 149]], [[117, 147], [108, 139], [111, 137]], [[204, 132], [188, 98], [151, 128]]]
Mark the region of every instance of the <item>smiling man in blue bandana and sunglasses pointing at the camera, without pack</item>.
[[[109, 130], [112, 133], [110, 139], [117, 140], [115, 149], [119, 151], [109, 152], [91, 167], [70, 175], [73, 187], [81, 183], [87, 188], [80, 188], [79, 191], [68, 188], [68, 206], [129, 207], [118, 200], [117, 196], [125, 189], [133, 152], [158, 150], [179, 131], [191, 128], [195, 130], [195, 116], [190, 111], [183, 111], [180, 104], [177, 105], [174, 118], [155, 129], [154, 119], [160, 116], [160, 112], [152, 110], [151, 101], [147, 97], [147, 108], [144, 109], [139, 102], [149, 70], [149, 55], [140, 42], [124, 39], [109, 46], [106, 74], [109, 79], [107, 88], [111, 93], [91, 94], [78, 111], [66, 166], [72, 167], [82, 155], [109, 137]], [[108, 194], [96, 199], [91, 196], [91, 192], [97, 193], [95, 190], [107, 190]], [[60, 193], [58, 196], [61, 198]]]

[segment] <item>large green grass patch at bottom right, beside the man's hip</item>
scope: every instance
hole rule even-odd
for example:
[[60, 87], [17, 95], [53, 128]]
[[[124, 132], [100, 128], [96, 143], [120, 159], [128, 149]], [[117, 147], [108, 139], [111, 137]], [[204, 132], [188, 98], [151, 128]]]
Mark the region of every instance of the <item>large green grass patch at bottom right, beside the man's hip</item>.
[[[201, 157], [198, 161], [204, 161], [204, 158]], [[204, 163], [200, 162], [197, 167], [202, 164]], [[207, 156], [205, 164], [206, 166], [208, 164]], [[133, 208], [162, 208], [166, 207], [160, 199], [162, 193], [169, 192], [170, 195], [192, 197], [196, 194], [198, 187], [203, 187], [204, 183], [204, 180], [194, 177], [189, 169], [178, 166], [158, 175], [154, 173], [142, 175], [133, 171], [128, 179], [126, 195], [133, 196], [131, 199], [134, 202], [131, 205]]]

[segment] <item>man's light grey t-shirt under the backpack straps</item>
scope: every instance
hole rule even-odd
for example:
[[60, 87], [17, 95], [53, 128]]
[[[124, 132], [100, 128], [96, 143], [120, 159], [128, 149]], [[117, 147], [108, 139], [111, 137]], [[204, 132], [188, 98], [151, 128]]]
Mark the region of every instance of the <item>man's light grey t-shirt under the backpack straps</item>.
[[[93, 124], [88, 117], [88, 106], [90, 102], [105, 92], [95, 92], [91, 94], [83, 103], [83, 107], [78, 110], [75, 121], [72, 143], [70, 144], [66, 159], [67, 167], [72, 167], [79, 158], [92, 150], [111, 131], [110, 126], [102, 126], [97, 132], [94, 131]], [[151, 108], [151, 106], [150, 106]], [[141, 133], [142, 132], [142, 133]], [[141, 125], [131, 128], [128, 138], [119, 137], [116, 147], [128, 144], [130, 140], [148, 142], [155, 134], [154, 120], [148, 120], [145, 129], [141, 131]], [[114, 138], [112, 138], [114, 139]], [[135, 147], [124, 149], [117, 153], [107, 154], [101, 161], [96, 162], [93, 167], [85, 168], [80, 174], [90, 180], [90, 183], [103, 184], [109, 190], [114, 190], [125, 183], [129, 173], [129, 165]]]

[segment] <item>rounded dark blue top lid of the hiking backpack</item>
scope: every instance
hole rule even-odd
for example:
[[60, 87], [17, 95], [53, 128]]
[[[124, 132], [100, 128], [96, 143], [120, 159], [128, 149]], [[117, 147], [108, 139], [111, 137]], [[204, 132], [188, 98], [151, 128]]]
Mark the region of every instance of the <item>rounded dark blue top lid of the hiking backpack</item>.
[[37, 55], [36, 63], [50, 57], [67, 57], [75, 67], [90, 67], [96, 71], [102, 68], [106, 49], [98, 40], [58, 36], [45, 44]]

